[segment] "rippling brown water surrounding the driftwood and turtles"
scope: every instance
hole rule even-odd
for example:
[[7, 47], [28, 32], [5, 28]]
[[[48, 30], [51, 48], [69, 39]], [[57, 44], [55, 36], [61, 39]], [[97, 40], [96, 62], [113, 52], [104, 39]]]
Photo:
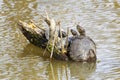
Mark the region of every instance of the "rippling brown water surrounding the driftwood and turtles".
[[[43, 57], [17, 21], [38, 25], [47, 10], [62, 27], [79, 23], [97, 44], [96, 64]], [[120, 80], [120, 0], [0, 0], [0, 80]]]

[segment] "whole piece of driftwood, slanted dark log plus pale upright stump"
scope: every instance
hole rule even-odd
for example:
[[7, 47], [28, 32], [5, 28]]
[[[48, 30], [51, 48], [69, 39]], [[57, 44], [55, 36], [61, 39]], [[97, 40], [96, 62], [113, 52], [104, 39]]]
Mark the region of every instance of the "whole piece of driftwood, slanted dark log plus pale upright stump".
[[50, 58], [54, 57], [60, 60], [68, 60], [67, 49], [64, 48], [64, 44], [62, 44], [62, 33], [60, 33], [60, 37], [58, 37], [58, 28], [60, 29], [58, 25], [60, 25], [60, 23], [56, 24], [55, 20], [50, 19], [48, 15], [44, 17], [44, 21], [49, 26], [48, 39], [45, 35], [46, 29], [38, 27], [32, 20], [30, 20], [29, 23], [19, 21], [18, 26], [30, 43], [45, 49], [43, 55], [47, 50], [50, 53]]

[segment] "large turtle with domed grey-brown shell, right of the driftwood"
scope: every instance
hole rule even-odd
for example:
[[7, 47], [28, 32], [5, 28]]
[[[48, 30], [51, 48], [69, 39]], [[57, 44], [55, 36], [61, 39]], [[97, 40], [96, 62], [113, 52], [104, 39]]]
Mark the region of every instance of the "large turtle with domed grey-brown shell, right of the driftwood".
[[96, 45], [94, 41], [86, 36], [85, 29], [80, 25], [77, 25], [77, 32], [71, 30], [74, 33], [69, 47], [69, 56], [73, 61], [96, 61]]

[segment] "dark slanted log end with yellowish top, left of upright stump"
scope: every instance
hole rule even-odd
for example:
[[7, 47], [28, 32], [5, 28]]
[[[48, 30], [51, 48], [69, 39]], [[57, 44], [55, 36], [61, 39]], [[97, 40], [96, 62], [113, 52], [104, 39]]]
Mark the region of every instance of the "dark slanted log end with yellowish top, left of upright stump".
[[30, 43], [39, 47], [46, 47], [48, 40], [45, 37], [44, 29], [40, 29], [39, 27], [35, 26], [33, 22], [27, 24], [23, 21], [19, 21], [18, 26]]

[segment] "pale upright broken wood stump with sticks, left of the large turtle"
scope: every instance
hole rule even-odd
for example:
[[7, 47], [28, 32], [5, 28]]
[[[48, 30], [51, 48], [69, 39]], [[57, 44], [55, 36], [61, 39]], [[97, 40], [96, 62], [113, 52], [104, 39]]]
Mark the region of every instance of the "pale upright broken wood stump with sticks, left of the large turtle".
[[[55, 20], [53, 18], [49, 18], [48, 14], [46, 13], [47, 17], [44, 19], [44, 21], [48, 24], [49, 26], [49, 42], [48, 42], [48, 51], [51, 52], [50, 58], [53, 57], [57, 59], [62, 59], [62, 60], [68, 60], [68, 57], [66, 56], [67, 50], [63, 49], [61, 36], [58, 36], [58, 25], [56, 24]], [[59, 29], [59, 31], [61, 31]], [[61, 35], [61, 34], [60, 34]], [[61, 45], [61, 46], [60, 46]], [[60, 47], [59, 47], [60, 46]]]

